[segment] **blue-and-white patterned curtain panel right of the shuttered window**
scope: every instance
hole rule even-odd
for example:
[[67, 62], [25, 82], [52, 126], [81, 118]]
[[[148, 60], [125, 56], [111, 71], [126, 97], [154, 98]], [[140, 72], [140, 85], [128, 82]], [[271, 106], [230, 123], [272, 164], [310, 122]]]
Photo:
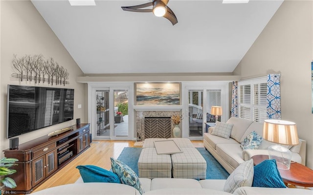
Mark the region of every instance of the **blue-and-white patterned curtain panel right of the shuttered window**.
[[267, 83], [267, 118], [281, 119], [280, 74], [269, 74]]

